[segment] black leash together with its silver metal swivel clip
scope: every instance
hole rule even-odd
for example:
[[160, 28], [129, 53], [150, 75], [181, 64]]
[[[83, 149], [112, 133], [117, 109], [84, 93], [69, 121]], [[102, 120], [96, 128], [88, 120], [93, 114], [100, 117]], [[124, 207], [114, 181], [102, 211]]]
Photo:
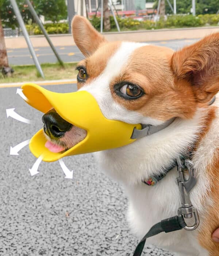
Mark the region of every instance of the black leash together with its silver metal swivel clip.
[[[196, 184], [196, 178], [194, 175], [194, 168], [192, 161], [188, 158], [177, 159], [177, 171], [178, 171], [178, 186], [180, 190], [181, 197], [181, 207], [178, 208], [178, 213], [174, 217], [164, 219], [161, 222], [158, 222], [147, 232], [147, 234], [142, 238], [142, 240], [137, 245], [133, 256], [141, 256], [143, 248], [145, 246], [145, 241], [147, 238], [155, 236], [161, 232], [169, 233], [181, 229], [185, 230], [195, 230], [199, 226], [199, 214], [197, 209], [193, 207], [190, 198], [189, 192]], [[189, 177], [185, 179], [184, 172], [188, 171]], [[185, 219], [195, 218], [195, 223], [192, 226], [188, 226], [185, 222]]]

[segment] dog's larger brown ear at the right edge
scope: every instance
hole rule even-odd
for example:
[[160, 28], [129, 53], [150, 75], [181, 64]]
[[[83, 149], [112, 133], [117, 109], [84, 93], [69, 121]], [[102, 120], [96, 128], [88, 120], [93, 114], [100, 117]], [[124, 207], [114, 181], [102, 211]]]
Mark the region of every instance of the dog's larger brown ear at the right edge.
[[177, 80], [187, 80], [197, 102], [205, 103], [219, 91], [219, 33], [175, 52], [171, 67]]

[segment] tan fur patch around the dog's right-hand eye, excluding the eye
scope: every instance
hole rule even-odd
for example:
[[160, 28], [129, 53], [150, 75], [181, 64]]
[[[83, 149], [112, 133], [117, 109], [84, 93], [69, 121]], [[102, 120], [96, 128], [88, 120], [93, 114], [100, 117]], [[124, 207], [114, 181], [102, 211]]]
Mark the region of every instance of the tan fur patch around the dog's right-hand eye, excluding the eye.
[[[111, 93], [115, 101], [127, 109], [160, 120], [191, 118], [196, 110], [196, 102], [188, 82], [174, 84], [169, 66], [172, 54], [173, 51], [168, 48], [151, 45], [136, 49], [127, 67], [111, 82]], [[124, 80], [141, 86], [145, 95], [132, 101], [116, 95], [114, 84]]]

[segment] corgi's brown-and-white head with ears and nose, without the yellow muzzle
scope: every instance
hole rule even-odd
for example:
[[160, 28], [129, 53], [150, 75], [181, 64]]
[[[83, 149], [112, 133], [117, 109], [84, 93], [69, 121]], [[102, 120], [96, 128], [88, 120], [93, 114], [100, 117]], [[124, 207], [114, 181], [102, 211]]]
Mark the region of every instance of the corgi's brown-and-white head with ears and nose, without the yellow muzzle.
[[[192, 118], [219, 90], [219, 33], [177, 52], [135, 42], [108, 42], [87, 19], [72, 21], [74, 41], [86, 57], [77, 65], [78, 90], [96, 99], [103, 115], [129, 124], [159, 125]], [[66, 150], [87, 131], [50, 110], [43, 116], [46, 146]]]

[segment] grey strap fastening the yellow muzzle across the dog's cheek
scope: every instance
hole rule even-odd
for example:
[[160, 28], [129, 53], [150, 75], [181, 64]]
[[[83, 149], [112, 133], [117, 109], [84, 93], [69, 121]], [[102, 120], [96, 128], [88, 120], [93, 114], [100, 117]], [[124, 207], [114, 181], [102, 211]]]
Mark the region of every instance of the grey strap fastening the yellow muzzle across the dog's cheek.
[[134, 128], [132, 135], [131, 135], [131, 139], [141, 139], [141, 138], [151, 135], [155, 132], [159, 132], [162, 129], [168, 127], [170, 124], [172, 124], [174, 120], [175, 120], [175, 117], [169, 119], [168, 121], [166, 121], [164, 124], [161, 124], [161, 125], [142, 124], [141, 130]]

